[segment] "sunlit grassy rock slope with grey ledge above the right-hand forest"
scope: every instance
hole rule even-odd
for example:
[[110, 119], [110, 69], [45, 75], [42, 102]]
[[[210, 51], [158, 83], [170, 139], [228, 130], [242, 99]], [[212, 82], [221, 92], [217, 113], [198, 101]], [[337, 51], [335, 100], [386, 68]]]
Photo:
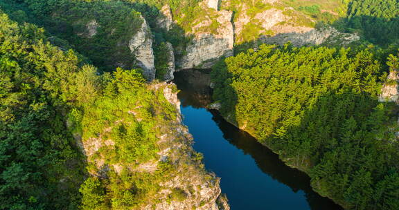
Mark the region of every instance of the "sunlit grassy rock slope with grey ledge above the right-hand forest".
[[[358, 35], [338, 32], [332, 27], [315, 29], [316, 20], [294, 8], [280, 5], [279, 1], [263, 0], [263, 3], [265, 9], [256, 14], [248, 12], [251, 8], [246, 3], [236, 6], [239, 10], [234, 22], [236, 44], [255, 41], [257, 44], [283, 45], [290, 41], [294, 46], [347, 45], [360, 39]], [[226, 5], [231, 6], [229, 2]]]

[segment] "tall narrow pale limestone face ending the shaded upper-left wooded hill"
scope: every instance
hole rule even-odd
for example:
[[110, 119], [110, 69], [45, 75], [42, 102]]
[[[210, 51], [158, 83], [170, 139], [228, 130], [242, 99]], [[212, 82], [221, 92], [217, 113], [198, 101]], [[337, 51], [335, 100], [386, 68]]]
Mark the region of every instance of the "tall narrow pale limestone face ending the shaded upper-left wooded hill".
[[152, 50], [152, 35], [147, 21], [143, 23], [136, 35], [129, 41], [129, 48], [136, 57], [137, 66], [143, 68], [145, 77], [152, 81], [155, 78], [154, 51]]

